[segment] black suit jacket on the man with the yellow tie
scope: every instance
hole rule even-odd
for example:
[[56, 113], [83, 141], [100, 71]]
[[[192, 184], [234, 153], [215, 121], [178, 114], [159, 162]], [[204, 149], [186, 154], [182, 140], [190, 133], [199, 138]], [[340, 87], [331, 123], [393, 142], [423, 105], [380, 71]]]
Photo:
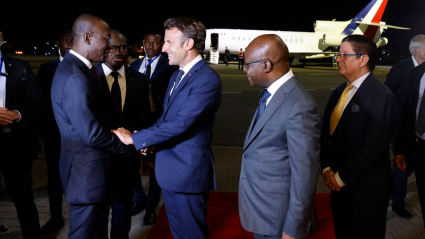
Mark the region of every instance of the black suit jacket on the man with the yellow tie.
[[[332, 91], [323, 112], [320, 134], [321, 169], [328, 166], [355, 200], [389, 199], [393, 180], [389, 160], [389, 141], [397, 124], [395, 96], [370, 73], [345, 107], [332, 135], [330, 114], [345, 83]], [[336, 192], [338, 193], [338, 192]]]

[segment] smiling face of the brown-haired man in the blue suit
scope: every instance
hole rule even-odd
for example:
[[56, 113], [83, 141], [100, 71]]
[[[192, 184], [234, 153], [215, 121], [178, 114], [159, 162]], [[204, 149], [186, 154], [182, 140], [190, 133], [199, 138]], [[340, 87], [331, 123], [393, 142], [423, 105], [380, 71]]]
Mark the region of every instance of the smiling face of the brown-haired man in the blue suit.
[[183, 68], [191, 59], [187, 57], [187, 49], [184, 47], [185, 41], [183, 33], [177, 28], [165, 30], [165, 43], [162, 46], [162, 51], [168, 54], [170, 65], [178, 65]]

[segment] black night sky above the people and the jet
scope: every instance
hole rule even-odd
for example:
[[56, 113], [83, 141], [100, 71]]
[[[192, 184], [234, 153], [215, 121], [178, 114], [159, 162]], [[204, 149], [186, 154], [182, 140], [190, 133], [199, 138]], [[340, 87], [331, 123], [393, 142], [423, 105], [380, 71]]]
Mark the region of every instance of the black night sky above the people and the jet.
[[[208, 28], [313, 31], [315, 20], [349, 20], [369, 0], [279, 1], [197, 1], [198, 6], [182, 6], [159, 0], [138, 1], [33, 1], [9, 0], [0, 4], [0, 30], [10, 42], [54, 41], [62, 28], [70, 28], [82, 13], [103, 18], [110, 27], [121, 30], [128, 43], [141, 43], [144, 30], [163, 29], [169, 17], [190, 16]], [[131, 3], [130, 3], [131, 2]], [[150, 2], [150, 3], [145, 3]], [[231, 2], [231, 3], [229, 3]], [[276, 1], [274, 1], [276, 2]], [[289, 2], [289, 3], [288, 3]], [[283, 6], [280, 6], [283, 4]], [[410, 30], [386, 29], [384, 46], [398, 54], [408, 54], [408, 42], [416, 34], [425, 34], [424, 0], [388, 0], [382, 21], [410, 27]]]

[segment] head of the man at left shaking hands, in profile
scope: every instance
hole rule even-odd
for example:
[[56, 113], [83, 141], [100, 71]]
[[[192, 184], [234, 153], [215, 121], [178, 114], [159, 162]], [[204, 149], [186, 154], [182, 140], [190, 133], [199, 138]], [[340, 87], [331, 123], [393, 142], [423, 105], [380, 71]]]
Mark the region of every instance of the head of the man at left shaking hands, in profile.
[[72, 25], [72, 50], [92, 62], [104, 62], [109, 53], [110, 28], [100, 17], [78, 16]]

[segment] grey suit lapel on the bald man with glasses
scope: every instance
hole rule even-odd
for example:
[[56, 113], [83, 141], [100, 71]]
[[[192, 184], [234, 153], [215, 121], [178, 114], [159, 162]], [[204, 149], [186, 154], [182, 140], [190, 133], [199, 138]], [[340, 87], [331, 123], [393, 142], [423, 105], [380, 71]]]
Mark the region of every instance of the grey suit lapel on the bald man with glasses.
[[251, 125], [249, 126], [248, 133], [245, 138], [243, 150], [246, 149], [246, 147], [251, 143], [251, 141], [256, 137], [256, 135], [261, 131], [261, 129], [264, 127], [270, 117], [274, 114], [274, 112], [282, 104], [284, 104], [284, 101], [286, 99], [285, 94], [292, 91], [293, 87], [295, 87], [297, 83], [298, 79], [296, 78], [296, 76], [292, 76], [286, 82], [284, 82], [273, 94], [267, 106], [265, 107], [264, 112], [254, 125], [254, 119], [257, 114], [257, 111], [255, 111], [255, 114], [251, 120]]

